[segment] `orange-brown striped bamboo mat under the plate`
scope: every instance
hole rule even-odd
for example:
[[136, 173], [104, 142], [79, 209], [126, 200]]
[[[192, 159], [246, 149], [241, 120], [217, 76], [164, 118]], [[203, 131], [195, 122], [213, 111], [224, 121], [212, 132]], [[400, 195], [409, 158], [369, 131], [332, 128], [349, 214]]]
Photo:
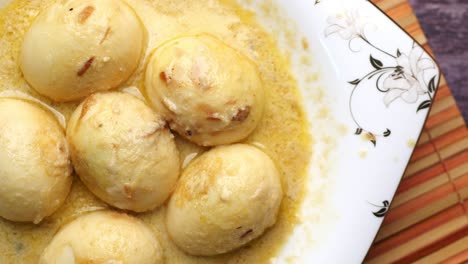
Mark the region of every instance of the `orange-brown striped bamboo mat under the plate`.
[[[432, 54], [407, 0], [373, 0]], [[445, 79], [366, 263], [468, 263], [468, 129]]]

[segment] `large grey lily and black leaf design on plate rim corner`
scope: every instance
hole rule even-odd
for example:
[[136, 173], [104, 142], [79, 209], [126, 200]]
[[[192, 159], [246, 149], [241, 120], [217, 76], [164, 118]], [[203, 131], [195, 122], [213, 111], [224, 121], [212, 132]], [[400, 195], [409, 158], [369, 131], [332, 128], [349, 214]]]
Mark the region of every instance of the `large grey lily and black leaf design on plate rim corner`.
[[[413, 42], [406, 54], [400, 51], [403, 49], [391, 53], [374, 45], [365, 33], [366, 28], [372, 25], [362, 19], [358, 10], [346, 10], [335, 16], [329, 16], [327, 24], [328, 27], [324, 30], [325, 37], [337, 35], [346, 40], [351, 52], [360, 52], [352, 46], [354, 41], [360, 40], [365, 45], [369, 45], [378, 56], [386, 56], [393, 60], [392, 64], [384, 65], [376, 58], [377, 56], [370, 54], [368, 58], [373, 70], [349, 82], [353, 88], [349, 99], [349, 110], [357, 126], [356, 135], [364, 133], [365, 138], [376, 146], [377, 138], [389, 137], [392, 133], [391, 128], [381, 124], [375, 125], [377, 122], [373, 120], [366, 120], [365, 114], [358, 110], [363, 102], [359, 97], [366, 97], [368, 100], [370, 97], [378, 96], [375, 100], [381, 100], [385, 107], [373, 109], [376, 111], [392, 111], [391, 105], [397, 100], [415, 104], [420, 101], [420, 97], [424, 97], [425, 100], [416, 106], [416, 113], [431, 106], [438, 76], [428, 75], [426, 72], [437, 69], [437, 65], [416, 42]], [[370, 96], [366, 92], [370, 89], [377, 90], [379, 94], [374, 93]]]

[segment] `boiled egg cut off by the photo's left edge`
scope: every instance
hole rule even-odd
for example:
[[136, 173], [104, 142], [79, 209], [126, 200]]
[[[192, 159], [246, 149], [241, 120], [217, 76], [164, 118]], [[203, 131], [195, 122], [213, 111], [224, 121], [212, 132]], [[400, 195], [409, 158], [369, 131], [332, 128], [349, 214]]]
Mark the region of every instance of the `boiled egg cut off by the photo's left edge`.
[[63, 204], [71, 183], [55, 116], [36, 103], [0, 98], [0, 216], [39, 223]]

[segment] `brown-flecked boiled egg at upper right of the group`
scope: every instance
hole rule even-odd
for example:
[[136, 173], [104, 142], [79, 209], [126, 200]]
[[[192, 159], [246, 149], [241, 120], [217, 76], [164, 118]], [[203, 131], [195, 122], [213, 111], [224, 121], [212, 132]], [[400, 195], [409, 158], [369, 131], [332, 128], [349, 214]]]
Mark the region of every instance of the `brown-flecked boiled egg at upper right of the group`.
[[158, 47], [145, 86], [171, 129], [198, 145], [238, 142], [262, 118], [264, 90], [256, 65], [207, 34]]

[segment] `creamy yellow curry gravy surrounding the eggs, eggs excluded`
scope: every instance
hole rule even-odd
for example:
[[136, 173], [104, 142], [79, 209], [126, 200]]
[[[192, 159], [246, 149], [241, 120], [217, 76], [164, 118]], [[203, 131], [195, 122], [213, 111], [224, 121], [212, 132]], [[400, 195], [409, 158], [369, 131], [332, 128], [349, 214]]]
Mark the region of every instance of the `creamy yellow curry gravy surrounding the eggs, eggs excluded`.
[[[0, 92], [20, 90], [51, 105], [68, 119], [79, 102], [59, 104], [38, 95], [27, 85], [18, 66], [25, 32], [37, 14], [51, 2], [16, 0], [0, 10]], [[263, 149], [273, 158], [281, 172], [285, 190], [278, 222], [272, 229], [246, 247], [217, 257], [194, 257], [180, 251], [166, 233], [164, 206], [136, 216], [146, 222], [161, 241], [167, 263], [270, 262], [298, 221], [296, 214], [303, 197], [311, 146], [299, 90], [288, 62], [280, 54], [274, 39], [257, 24], [254, 15], [234, 0], [127, 2], [147, 28], [148, 45], [138, 70], [118, 89], [141, 89], [148, 55], [158, 45], [174, 37], [206, 32], [242, 51], [257, 63], [267, 91], [264, 118], [245, 143]], [[177, 145], [183, 165], [206, 150], [180, 138], [177, 138]], [[103, 208], [108, 206], [94, 197], [75, 175], [65, 204], [39, 225], [13, 223], [0, 218], [0, 263], [37, 263], [42, 250], [61, 226], [84, 213]]]

